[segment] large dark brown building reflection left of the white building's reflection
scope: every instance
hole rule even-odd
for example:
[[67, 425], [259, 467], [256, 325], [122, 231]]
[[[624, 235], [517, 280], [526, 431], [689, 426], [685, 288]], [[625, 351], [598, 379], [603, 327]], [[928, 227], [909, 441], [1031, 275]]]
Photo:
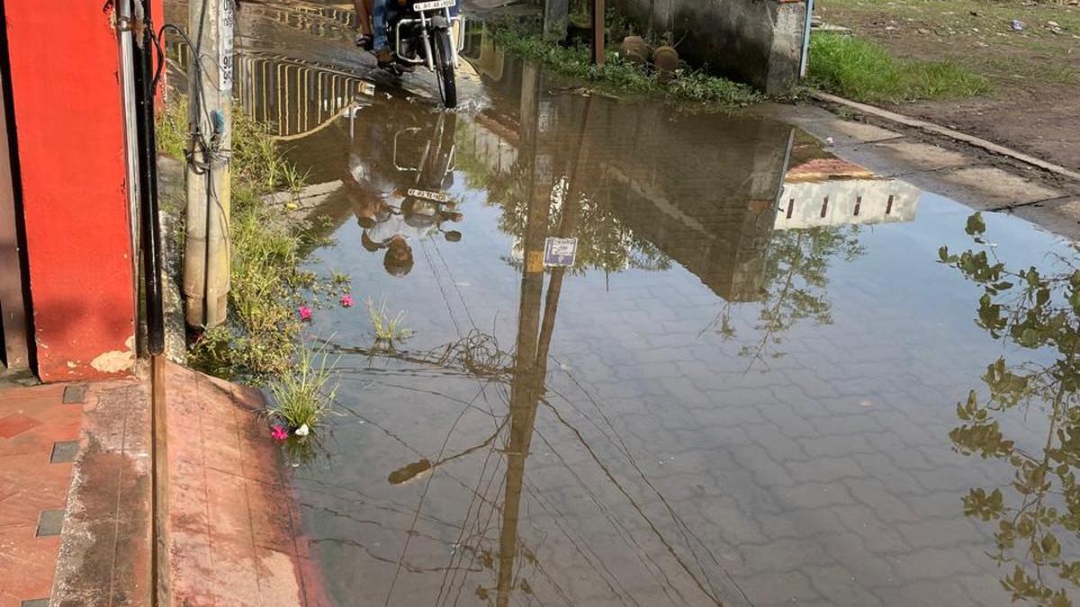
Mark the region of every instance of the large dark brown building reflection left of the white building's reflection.
[[[485, 77], [501, 77], [492, 87], [511, 100], [508, 106], [522, 108], [521, 116], [481, 114], [469, 134], [471, 145], [465, 143], [476, 161], [505, 174], [527, 139], [519, 134], [535, 131], [541, 180], [554, 184], [578, 174], [590, 205], [609, 210], [638, 241], [680, 264], [720, 297], [757, 297], [789, 126], [573, 94], [543, 96], [530, 108], [523, 100], [529, 91], [550, 84], [523, 78], [528, 70], [508, 69], [504, 63], [514, 59], [496, 57], [497, 51], [478, 38], [471, 42], [465, 56]], [[532, 125], [521, 124], [529, 114]]]

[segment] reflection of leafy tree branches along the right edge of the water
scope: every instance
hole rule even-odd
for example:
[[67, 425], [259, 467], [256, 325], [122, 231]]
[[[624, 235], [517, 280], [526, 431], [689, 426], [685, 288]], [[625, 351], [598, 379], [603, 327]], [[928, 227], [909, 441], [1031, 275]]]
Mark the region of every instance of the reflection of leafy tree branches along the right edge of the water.
[[[972, 488], [963, 498], [963, 512], [996, 523], [991, 555], [999, 565], [1013, 564], [1001, 580], [1013, 601], [1072, 605], [1067, 591], [1080, 586], [1080, 555], [1074, 550], [1070, 559], [1067, 550], [1080, 540], [1080, 266], [1076, 259], [1061, 259], [1047, 275], [1034, 267], [1009, 269], [985, 246], [984, 231], [982, 217], [973, 215], [968, 233], [978, 249], [953, 255], [942, 247], [942, 262], [983, 287], [978, 326], [996, 339], [1052, 352], [1055, 360], [1017, 366], [998, 359], [983, 376], [988, 399], [972, 390], [957, 405], [961, 424], [949, 432], [956, 449], [1008, 461], [1015, 469], [1008, 486]], [[1080, 253], [1076, 244], [1074, 249]], [[1001, 423], [1010, 410], [1032, 404], [1047, 416], [1045, 441], [1027, 450], [1005, 437]]]

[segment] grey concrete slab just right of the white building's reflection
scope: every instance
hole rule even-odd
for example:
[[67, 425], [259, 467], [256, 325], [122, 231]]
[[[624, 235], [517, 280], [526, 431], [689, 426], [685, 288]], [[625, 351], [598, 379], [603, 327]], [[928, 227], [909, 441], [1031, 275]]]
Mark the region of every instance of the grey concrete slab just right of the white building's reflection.
[[1000, 210], [1014, 204], [1026, 204], [1062, 198], [1065, 192], [1048, 188], [994, 166], [970, 166], [909, 176], [915, 181], [928, 181], [924, 189], [951, 198], [975, 210]]

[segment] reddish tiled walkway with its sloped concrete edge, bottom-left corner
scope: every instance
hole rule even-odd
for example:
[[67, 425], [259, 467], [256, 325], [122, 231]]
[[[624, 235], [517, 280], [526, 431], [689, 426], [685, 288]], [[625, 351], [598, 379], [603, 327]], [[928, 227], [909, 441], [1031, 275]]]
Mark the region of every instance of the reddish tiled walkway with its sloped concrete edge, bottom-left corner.
[[[260, 394], [166, 382], [172, 604], [328, 605]], [[149, 403], [143, 380], [0, 389], [0, 607], [149, 603]]]

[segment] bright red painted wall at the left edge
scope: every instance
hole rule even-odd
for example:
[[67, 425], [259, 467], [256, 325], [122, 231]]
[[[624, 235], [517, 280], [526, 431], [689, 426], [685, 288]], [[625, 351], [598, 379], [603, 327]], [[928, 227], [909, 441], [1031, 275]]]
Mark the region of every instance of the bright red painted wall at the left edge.
[[126, 375], [135, 297], [111, 12], [104, 1], [3, 3], [38, 375]]

